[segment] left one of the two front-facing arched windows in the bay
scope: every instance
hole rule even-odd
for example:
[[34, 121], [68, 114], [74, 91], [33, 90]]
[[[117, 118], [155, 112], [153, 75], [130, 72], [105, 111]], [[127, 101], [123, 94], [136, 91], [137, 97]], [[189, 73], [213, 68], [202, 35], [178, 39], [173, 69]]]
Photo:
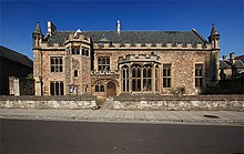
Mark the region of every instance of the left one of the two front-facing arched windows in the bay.
[[141, 91], [141, 66], [139, 64], [132, 66], [132, 90]]

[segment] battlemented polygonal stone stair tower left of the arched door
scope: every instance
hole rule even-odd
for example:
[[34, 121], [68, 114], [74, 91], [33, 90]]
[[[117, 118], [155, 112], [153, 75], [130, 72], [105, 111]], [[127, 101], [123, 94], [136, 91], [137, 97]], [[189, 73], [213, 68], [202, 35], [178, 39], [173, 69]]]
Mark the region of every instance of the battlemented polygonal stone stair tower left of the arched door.
[[78, 29], [65, 40], [65, 88], [69, 94], [91, 93], [91, 40]]

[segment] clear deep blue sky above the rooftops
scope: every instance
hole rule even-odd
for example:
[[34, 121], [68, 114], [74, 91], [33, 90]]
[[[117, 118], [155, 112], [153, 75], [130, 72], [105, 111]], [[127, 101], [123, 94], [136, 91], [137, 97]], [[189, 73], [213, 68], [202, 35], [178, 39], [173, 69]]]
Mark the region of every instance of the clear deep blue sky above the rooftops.
[[0, 44], [32, 59], [32, 35], [39, 20], [47, 32], [47, 21], [58, 30], [190, 31], [196, 29], [205, 39], [212, 23], [221, 34], [221, 55], [244, 54], [242, 0], [206, 1], [2, 1]]

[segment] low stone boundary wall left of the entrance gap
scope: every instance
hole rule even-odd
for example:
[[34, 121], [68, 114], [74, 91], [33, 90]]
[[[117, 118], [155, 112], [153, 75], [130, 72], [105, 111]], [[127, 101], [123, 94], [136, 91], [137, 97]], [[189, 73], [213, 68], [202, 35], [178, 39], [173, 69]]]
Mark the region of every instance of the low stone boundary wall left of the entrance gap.
[[65, 96], [0, 96], [0, 107], [98, 109], [92, 95]]

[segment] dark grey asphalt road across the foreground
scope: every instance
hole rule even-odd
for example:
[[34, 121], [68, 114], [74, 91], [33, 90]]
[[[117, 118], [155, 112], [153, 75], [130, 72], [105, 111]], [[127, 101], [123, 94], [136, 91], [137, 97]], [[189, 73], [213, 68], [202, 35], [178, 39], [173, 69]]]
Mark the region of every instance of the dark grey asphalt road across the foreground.
[[0, 120], [2, 153], [243, 153], [241, 126]]

